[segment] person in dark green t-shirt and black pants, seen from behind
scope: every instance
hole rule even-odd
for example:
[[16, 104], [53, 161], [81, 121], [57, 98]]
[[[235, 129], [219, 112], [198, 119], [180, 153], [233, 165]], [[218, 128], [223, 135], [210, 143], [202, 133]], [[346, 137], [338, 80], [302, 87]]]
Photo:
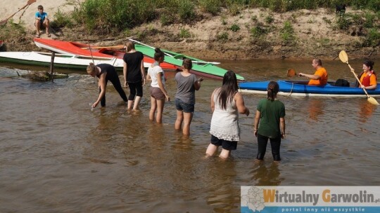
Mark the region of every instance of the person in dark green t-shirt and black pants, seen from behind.
[[[279, 84], [270, 81], [267, 98], [260, 99], [256, 110], [254, 134], [258, 138], [258, 160], [263, 160], [267, 150], [268, 139], [272, 146], [273, 160], [279, 161], [281, 138], [285, 138], [285, 106], [277, 99]], [[259, 124], [260, 123], [260, 124]]]

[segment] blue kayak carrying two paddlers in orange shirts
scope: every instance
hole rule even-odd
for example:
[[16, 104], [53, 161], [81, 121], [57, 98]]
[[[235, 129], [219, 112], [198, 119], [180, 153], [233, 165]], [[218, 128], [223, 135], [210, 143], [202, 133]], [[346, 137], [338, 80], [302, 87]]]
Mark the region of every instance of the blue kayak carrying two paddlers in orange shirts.
[[[267, 85], [270, 81], [251, 81], [239, 83], [241, 92], [254, 94], [267, 94]], [[335, 82], [326, 85], [308, 85], [308, 81], [277, 81], [279, 83], [279, 95], [304, 96], [304, 97], [366, 97], [362, 88], [350, 83], [349, 87], [336, 86]], [[373, 97], [380, 97], [380, 88], [367, 90]]]

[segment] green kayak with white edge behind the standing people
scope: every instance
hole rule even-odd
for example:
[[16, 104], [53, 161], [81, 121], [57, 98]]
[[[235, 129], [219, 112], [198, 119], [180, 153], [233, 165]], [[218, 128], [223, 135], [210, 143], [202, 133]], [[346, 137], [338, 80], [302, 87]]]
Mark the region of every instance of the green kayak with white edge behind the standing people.
[[[133, 39], [130, 39], [131, 41], [134, 41]], [[134, 47], [137, 51], [140, 51], [144, 55], [147, 55], [148, 57], [154, 57], [154, 48], [151, 46], [148, 46], [144, 43], [141, 43], [139, 41], [134, 41], [135, 44]], [[192, 74], [196, 74], [198, 76], [205, 76], [209, 78], [218, 78], [223, 79], [224, 74], [227, 72], [227, 69], [223, 69], [222, 67], [217, 67], [215, 62], [206, 62], [204, 60], [200, 60], [195, 57], [191, 57], [189, 55], [182, 55], [179, 53], [172, 52], [170, 50], [164, 50], [160, 49], [165, 53], [165, 62], [169, 64], [173, 64], [178, 67], [178, 69], [182, 69], [182, 62], [185, 58], [191, 59], [193, 62], [193, 67], [190, 70]], [[236, 78], [238, 81], [245, 81], [244, 77], [236, 74]]]

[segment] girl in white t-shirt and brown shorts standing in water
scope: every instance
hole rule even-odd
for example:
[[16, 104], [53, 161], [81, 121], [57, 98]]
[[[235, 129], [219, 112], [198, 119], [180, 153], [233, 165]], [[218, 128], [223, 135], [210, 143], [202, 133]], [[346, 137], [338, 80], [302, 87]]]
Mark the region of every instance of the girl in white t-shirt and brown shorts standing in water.
[[148, 74], [146, 78], [151, 80], [151, 111], [149, 111], [149, 120], [154, 121], [156, 114], [156, 122], [163, 123], [163, 107], [165, 105], [165, 99], [167, 102], [170, 101], [169, 95], [165, 90], [165, 74], [163, 69], [160, 67], [160, 63], [164, 61], [165, 55], [160, 50], [156, 48], [154, 50], [154, 60], [155, 62], [148, 67]]

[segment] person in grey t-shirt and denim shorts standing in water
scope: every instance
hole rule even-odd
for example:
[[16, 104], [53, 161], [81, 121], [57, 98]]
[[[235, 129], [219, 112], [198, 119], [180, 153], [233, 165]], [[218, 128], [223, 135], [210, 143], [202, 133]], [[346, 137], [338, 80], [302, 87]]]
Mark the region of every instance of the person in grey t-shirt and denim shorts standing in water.
[[196, 79], [194, 74], [190, 73], [193, 63], [189, 58], [182, 62], [182, 71], [177, 72], [175, 81], [177, 82], [177, 93], [175, 94], [175, 107], [177, 109], [177, 120], [175, 129], [181, 130], [182, 123], [184, 128], [182, 133], [190, 135], [190, 123], [193, 119], [195, 105], [195, 90], [201, 88], [203, 78]]

